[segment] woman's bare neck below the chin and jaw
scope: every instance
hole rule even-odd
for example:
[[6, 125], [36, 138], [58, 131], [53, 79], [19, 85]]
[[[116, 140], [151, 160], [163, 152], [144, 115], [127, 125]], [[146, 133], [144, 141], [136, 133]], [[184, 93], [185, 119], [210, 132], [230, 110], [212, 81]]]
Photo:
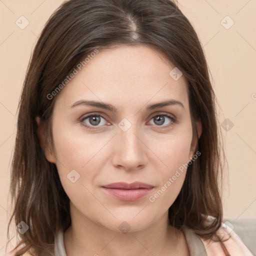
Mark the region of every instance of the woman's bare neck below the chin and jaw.
[[189, 255], [184, 234], [168, 225], [167, 212], [150, 226], [126, 233], [95, 223], [77, 209], [72, 213], [64, 232], [67, 256]]

